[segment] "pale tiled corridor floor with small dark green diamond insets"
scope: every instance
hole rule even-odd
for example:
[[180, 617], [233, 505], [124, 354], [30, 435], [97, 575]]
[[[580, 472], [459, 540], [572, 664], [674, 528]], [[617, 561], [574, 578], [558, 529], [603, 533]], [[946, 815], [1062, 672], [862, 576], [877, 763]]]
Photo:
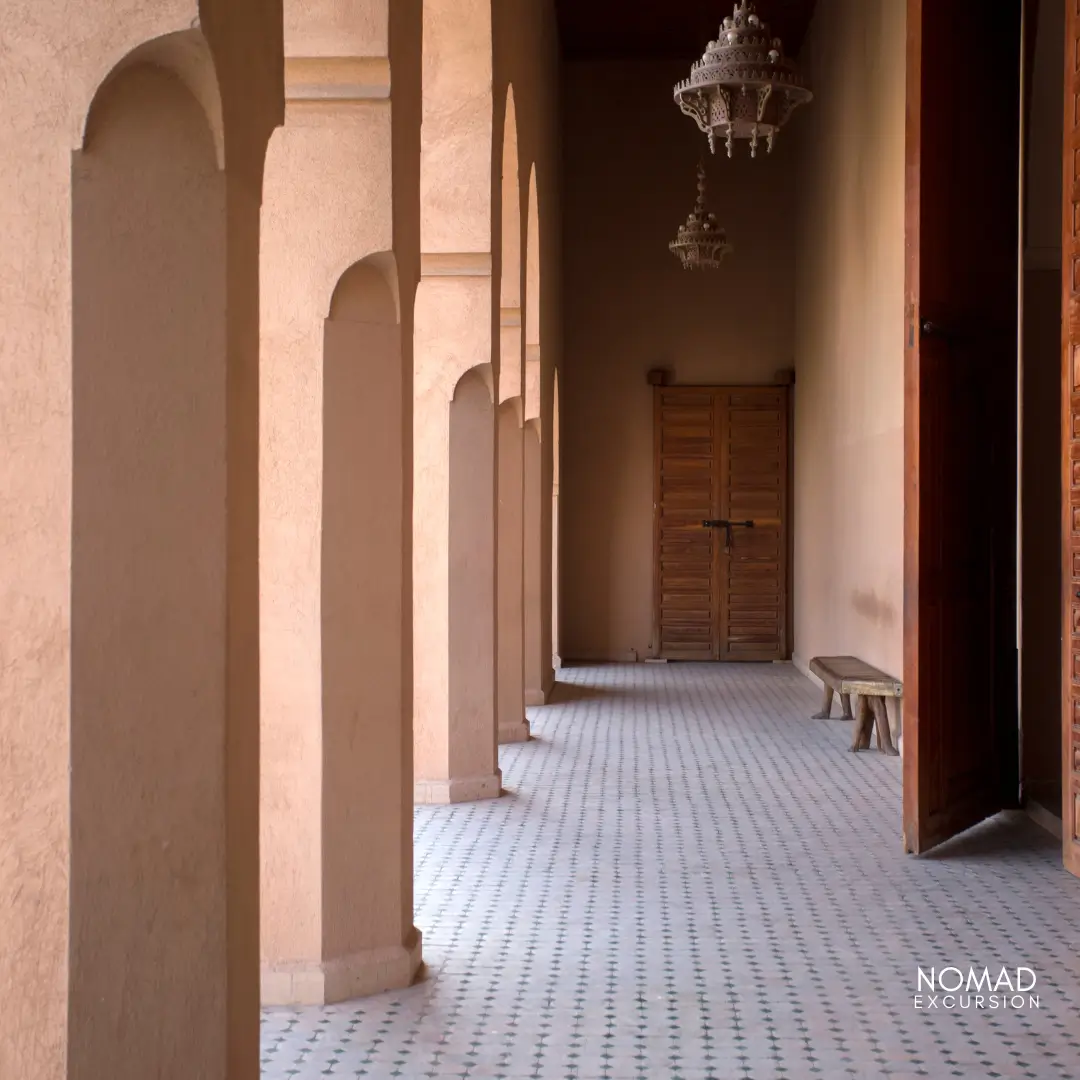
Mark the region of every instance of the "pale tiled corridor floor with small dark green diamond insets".
[[[900, 761], [789, 666], [571, 669], [498, 801], [416, 815], [426, 980], [271, 1010], [264, 1076], [1080, 1078], [1080, 881], [1026, 819], [900, 842]], [[917, 968], [1037, 1010], [917, 1011]]]

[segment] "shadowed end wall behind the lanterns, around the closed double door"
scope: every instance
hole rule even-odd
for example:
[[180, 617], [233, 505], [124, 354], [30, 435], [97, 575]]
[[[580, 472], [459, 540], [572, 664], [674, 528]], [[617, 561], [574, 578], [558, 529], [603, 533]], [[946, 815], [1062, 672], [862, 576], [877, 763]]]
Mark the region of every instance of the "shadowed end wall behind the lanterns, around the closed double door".
[[[569, 660], [649, 653], [646, 373], [671, 367], [683, 383], [771, 382], [793, 361], [795, 147], [785, 133], [771, 157], [752, 161], [742, 147], [732, 161], [710, 158], [672, 100], [686, 73], [643, 63], [565, 70], [559, 647]], [[693, 206], [702, 156], [711, 206], [735, 247], [715, 274], [684, 271], [667, 249]]]

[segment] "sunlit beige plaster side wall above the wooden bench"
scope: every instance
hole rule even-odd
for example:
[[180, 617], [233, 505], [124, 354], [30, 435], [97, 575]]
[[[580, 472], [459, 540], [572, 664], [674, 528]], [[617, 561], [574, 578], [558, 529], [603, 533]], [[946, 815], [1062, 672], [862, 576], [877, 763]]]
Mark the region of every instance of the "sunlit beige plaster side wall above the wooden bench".
[[800, 59], [795, 656], [900, 675], [904, 0], [821, 0]]

